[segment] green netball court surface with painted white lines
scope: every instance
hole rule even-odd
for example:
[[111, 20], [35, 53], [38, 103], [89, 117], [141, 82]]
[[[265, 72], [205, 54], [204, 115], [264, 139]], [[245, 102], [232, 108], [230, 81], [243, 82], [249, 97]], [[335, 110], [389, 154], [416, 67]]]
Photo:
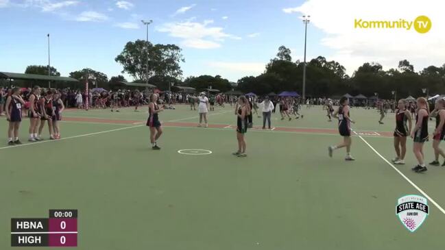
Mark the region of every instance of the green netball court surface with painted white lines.
[[[247, 158], [231, 155], [230, 106], [216, 108], [209, 128], [196, 127], [197, 113], [187, 106], [176, 108], [160, 114], [160, 151], [149, 149], [146, 107], [67, 110], [62, 140], [32, 144], [24, 119], [21, 147], [6, 146], [2, 117], [0, 249], [21, 249], [10, 247], [11, 218], [45, 218], [53, 208], [79, 211], [77, 249], [443, 249], [445, 167], [413, 173], [411, 140], [400, 173], [383, 160], [394, 157], [385, 136], [394, 114], [378, 125], [376, 110], [352, 109], [353, 129], [368, 134], [352, 138], [357, 161], [345, 162], [344, 150], [328, 157], [328, 145], [341, 137], [326, 130], [337, 123], [320, 106], [303, 108], [304, 118], [293, 121], [274, 114], [274, 131], [250, 129]], [[254, 117], [256, 127], [261, 121]], [[431, 142], [425, 153], [431, 161]], [[396, 203], [424, 196], [419, 189], [437, 205], [429, 200], [428, 218], [411, 233]]]

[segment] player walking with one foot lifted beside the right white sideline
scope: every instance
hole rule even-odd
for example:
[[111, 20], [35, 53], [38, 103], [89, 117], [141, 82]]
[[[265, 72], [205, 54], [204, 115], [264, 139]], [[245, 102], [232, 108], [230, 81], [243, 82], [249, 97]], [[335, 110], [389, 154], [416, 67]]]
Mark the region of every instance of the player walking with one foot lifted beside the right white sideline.
[[333, 151], [335, 149], [341, 149], [342, 147], [346, 147], [346, 158], [345, 160], [352, 161], [355, 160], [352, 158], [351, 151], [351, 128], [350, 123], [355, 123], [349, 116], [349, 101], [346, 97], [341, 97], [340, 99], [340, 107], [333, 116], [339, 119], [339, 133], [340, 136], [343, 136], [343, 142], [337, 146], [328, 147], [329, 156], [332, 157]]

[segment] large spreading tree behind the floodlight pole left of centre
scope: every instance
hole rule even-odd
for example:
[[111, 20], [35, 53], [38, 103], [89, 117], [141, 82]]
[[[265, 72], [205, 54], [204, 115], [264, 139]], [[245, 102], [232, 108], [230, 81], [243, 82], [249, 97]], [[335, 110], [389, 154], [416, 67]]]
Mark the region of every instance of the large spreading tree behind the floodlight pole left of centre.
[[123, 66], [122, 73], [128, 73], [136, 80], [146, 80], [154, 75], [177, 78], [182, 76], [179, 64], [184, 58], [181, 51], [176, 45], [152, 45], [145, 40], [136, 40], [127, 42], [115, 61]]

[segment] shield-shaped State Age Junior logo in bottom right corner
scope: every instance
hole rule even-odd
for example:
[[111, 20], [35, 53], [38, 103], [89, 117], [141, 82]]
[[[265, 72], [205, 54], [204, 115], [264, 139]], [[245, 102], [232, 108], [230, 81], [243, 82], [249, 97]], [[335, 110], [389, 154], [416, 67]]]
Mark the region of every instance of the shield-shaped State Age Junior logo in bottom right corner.
[[424, 223], [429, 214], [428, 200], [419, 195], [400, 197], [396, 214], [402, 224], [412, 233]]

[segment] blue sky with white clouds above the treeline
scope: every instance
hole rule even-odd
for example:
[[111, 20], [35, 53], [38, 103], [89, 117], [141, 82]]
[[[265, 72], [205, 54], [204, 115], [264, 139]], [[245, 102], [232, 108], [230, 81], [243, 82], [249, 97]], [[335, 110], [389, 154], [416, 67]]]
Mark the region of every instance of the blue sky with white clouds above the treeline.
[[[407, 59], [416, 71], [445, 64], [445, 3], [423, 0], [0, 0], [0, 71], [51, 66], [62, 76], [93, 68], [122, 74], [115, 62], [125, 43], [145, 39], [141, 20], [153, 20], [149, 40], [176, 44], [183, 77], [221, 75], [232, 82], [259, 75], [278, 47], [303, 60], [303, 15], [310, 15], [307, 60], [324, 56], [349, 75], [364, 62], [396, 68]], [[362, 21], [414, 21], [428, 16], [431, 29], [361, 29]], [[131, 77], [125, 75], [129, 81]]]

